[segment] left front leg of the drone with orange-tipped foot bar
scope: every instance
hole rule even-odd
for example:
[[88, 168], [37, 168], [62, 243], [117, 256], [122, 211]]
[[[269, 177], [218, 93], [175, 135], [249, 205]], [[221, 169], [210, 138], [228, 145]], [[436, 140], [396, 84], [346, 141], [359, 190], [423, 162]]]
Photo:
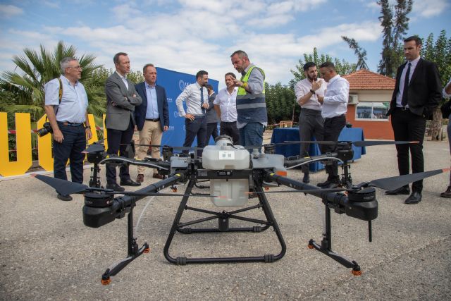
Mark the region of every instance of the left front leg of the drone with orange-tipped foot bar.
[[106, 269], [105, 273], [101, 276], [101, 284], [107, 285], [111, 282], [110, 276], [115, 276], [118, 274], [125, 266], [130, 264], [137, 257], [140, 257], [142, 253], [148, 253], [150, 251], [149, 245], [147, 242], [144, 242], [142, 247], [138, 247], [136, 242], [136, 238], [133, 237], [133, 207], [135, 204], [132, 204], [130, 208], [130, 212], [128, 213], [128, 223], [127, 223], [127, 233], [128, 233], [128, 257], [122, 259], [120, 262], [112, 266], [110, 269]]

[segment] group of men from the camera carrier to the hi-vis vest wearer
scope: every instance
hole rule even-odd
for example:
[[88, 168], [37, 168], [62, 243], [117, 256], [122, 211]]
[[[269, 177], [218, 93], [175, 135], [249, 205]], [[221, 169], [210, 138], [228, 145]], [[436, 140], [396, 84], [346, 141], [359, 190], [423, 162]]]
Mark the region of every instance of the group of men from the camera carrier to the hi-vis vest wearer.
[[[226, 73], [226, 88], [216, 95], [208, 84], [208, 73], [200, 70], [196, 82], [187, 85], [176, 100], [178, 113], [185, 118], [185, 147], [191, 147], [197, 137], [199, 156], [211, 136], [217, 137], [217, 123], [221, 121], [220, 135], [232, 137], [235, 145], [261, 146], [267, 124], [264, 97], [264, 71], [249, 61], [245, 51], [235, 51], [231, 63], [242, 73], [237, 80], [234, 73]], [[106, 80], [106, 140], [109, 156], [124, 156], [135, 130], [139, 131], [138, 159], [147, 156], [147, 145], [159, 145], [163, 132], [169, 128], [166, 90], [156, 85], [156, 68], [146, 64], [142, 73], [144, 82], [134, 85], [128, 78], [130, 59], [125, 52], [113, 57], [115, 72]], [[45, 111], [54, 136], [54, 176], [67, 180], [66, 164], [70, 160], [72, 181], [83, 181], [82, 151], [86, 140], [92, 137], [87, 118], [88, 99], [82, 83], [82, 67], [75, 58], [60, 62], [61, 77], [47, 82]], [[183, 106], [186, 104], [186, 111]], [[160, 158], [160, 148], [152, 147], [152, 158]], [[116, 166], [106, 164], [106, 188], [124, 191], [122, 186], [139, 186], [144, 181], [144, 167], [137, 167], [136, 181], [130, 178], [128, 166], [121, 166], [117, 183]], [[163, 178], [154, 172], [153, 178]], [[70, 201], [70, 195], [57, 195]]]

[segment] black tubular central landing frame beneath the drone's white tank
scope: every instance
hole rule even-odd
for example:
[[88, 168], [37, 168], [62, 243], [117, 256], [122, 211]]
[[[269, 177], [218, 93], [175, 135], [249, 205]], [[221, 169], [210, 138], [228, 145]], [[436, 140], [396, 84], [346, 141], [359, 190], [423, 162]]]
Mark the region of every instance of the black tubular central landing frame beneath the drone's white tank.
[[[187, 185], [187, 189], [185, 191], [186, 195], [190, 195], [192, 188], [194, 187], [195, 179], [190, 180]], [[255, 182], [254, 182], [255, 183]], [[257, 192], [263, 192], [261, 184], [255, 183], [254, 188]], [[164, 246], [164, 256], [168, 259], [168, 262], [172, 262], [177, 265], [185, 265], [185, 264], [205, 264], [205, 263], [231, 263], [231, 262], [275, 262], [285, 255], [286, 245], [283, 240], [282, 233], [280, 233], [280, 229], [274, 218], [273, 212], [271, 211], [271, 207], [268, 204], [268, 200], [266, 199], [263, 193], [258, 194], [259, 204], [247, 207], [243, 209], [238, 209], [235, 211], [227, 212], [214, 212], [204, 209], [198, 209], [193, 207], [187, 207], [188, 196], [183, 197], [182, 202], [180, 202], [180, 206], [178, 207], [177, 214], [175, 214], [175, 219], [173, 222], [173, 226], [171, 227], [171, 231], [168, 235], [168, 239], [166, 240], [166, 245]], [[250, 219], [244, 216], [237, 216], [236, 214], [249, 211], [252, 209], [261, 208], [264, 211], [266, 216], [266, 221], [259, 219]], [[180, 219], [182, 217], [184, 210], [192, 210], [197, 212], [202, 212], [205, 214], [211, 214], [211, 216], [206, 217], [204, 219], [197, 219], [194, 221], [188, 221], [185, 223], [180, 223]], [[187, 228], [187, 226], [191, 226], [197, 223], [203, 223], [204, 221], [211, 221], [213, 219], [218, 219], [218, 228]], [[250, 223], [258, 223], [264, 226], [254, 226], [254, 227], [243, 227], [243, 228], [230, 228], [229, 220], [230, 219], [238, 219], [241, 221], [249, 221]], [[255, 256], [255, 257], [213, 257], [213, 258], [187, 258], [187, 257], [171, 257], [169, 254], [169, 247], [171, 246], [171, 242], [175, 235], [175, 232], [178, 231], [180, 233], [210, 233], [210, 232], [254, 232], [259, 233], [261, 231], [265, 231], [269, 227], [273, 227], [276, 232], [278, 241], [280, 242], [280, 253], [279, 254], [264, 254], [263, 256]]]

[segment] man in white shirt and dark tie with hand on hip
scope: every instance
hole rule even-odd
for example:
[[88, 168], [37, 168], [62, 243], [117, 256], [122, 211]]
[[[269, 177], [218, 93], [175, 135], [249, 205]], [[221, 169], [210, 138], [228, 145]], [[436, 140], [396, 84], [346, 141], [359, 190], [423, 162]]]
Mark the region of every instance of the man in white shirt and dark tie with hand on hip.
[[[196, 82], [187, 85], [175, 100], [177, 104], [178, 115], [185, 117], [185, 142], [184, 147], [190, 147], [194, 138], [197, 137], [197, 147], [205, 146], [206, 139], [206, 118], [205, 112], [209, 107], [209, 92], [205, 85], [209, 82], [209, 73], [200, 70], [196, 74]], [[183, 108], [183, 102], [186, 102], [187, 110]], [[187, 151], [184, 151], [187, 154]], [[197, 151], [198, 156], [202, 156], [202, 150]]]

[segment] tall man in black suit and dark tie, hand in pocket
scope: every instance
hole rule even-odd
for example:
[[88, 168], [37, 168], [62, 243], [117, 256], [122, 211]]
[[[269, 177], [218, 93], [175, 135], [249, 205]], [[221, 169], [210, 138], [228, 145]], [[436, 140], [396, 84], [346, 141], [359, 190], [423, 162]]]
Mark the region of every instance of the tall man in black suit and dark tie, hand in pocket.
[[[397, 165], [400, 175], [409, 174], [409, 149], [412, 154], [412, 173], [424, 171], [423, 140], [426, 119], [429, 118], [441, 99], [441, 83], [437, 66], [420, 57], [421, 39], [416, 36], [404, 39], [404, 56], [407, 59], [397, 69], [395, 90], [387, 116], [392, 116], [395, 140], [419, 141], [410, 145], [396, 145]], [[395, 190], [386, 195], [409, 195], [406, 204], [421, 201], [423, 180]]]

